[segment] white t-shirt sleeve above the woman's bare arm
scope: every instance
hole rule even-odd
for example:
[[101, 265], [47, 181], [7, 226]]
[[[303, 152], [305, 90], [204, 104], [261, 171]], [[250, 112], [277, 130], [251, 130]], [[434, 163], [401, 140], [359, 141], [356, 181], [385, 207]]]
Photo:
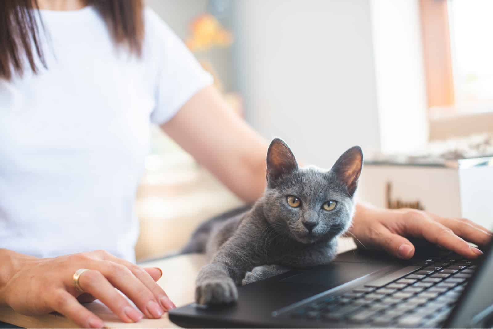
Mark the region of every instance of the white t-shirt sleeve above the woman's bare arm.
[[188, 99], [213, 82], [190, 50], [170, 27], [150, 8], [144, 10], [144, 47], [157, 69], [155, 108], [151, 121], [161, 125], [175, 116]]

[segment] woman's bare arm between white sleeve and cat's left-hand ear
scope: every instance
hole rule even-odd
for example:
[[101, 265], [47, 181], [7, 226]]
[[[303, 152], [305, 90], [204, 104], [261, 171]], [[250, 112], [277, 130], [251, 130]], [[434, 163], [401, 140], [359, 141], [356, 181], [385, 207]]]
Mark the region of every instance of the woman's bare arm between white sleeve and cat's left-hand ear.
[[246, 202], [262, 196], [269, 144], [214, 87], [195, 94], [161, 128], [237, 196]]

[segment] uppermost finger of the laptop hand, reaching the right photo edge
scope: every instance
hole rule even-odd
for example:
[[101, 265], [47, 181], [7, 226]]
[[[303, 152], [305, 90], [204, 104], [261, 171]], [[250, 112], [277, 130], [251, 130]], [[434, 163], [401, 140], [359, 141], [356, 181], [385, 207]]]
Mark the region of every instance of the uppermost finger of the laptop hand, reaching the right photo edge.
[[465, 240], [471, 241], [478, 245], [485, 245], [492, 238], [492, 234], [488, 232], [488, 230], [486, 230], [481, 225], [469, 221], [468, 219], [443, 218], [439, 216], [434, 216], [433, 219], [453, 230], [454, 233], [464, 238]]

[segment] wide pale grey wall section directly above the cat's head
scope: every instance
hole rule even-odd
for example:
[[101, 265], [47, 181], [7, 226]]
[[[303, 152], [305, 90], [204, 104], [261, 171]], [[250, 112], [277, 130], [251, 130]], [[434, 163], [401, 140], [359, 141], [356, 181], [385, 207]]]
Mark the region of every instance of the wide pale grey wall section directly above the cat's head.
[[238, 87], [247, 120], [306, 163], [380, 149], [368, 0], [236, 1]]

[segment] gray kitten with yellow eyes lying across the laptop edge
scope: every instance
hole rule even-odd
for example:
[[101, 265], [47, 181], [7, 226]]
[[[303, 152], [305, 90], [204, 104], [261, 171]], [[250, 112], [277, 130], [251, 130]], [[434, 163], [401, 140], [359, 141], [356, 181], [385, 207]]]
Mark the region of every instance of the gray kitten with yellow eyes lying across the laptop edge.
[[211, 258], [197, 277], [197, 303], [233, 302], [237, 284], [332, 261], [337, 237], [351, 225], [362, 165], [361, 148], [354, 146], [329, 171], [300, 168], [275, 138], [267, 151], [263, 197], [202, 224], [183, 249]]

